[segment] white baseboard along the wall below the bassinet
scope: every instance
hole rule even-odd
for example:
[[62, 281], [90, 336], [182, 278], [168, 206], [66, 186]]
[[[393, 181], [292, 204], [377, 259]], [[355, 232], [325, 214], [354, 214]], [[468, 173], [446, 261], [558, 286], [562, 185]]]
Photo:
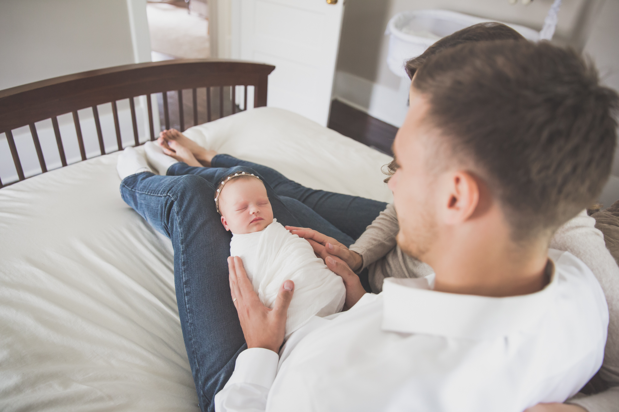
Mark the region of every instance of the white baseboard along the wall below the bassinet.
[[404, 122], [408, 110], [409, 84], [402, 81], [400, 90], [378, 85], [363, 77], [335, 72], [334, 98], [396, 127]]

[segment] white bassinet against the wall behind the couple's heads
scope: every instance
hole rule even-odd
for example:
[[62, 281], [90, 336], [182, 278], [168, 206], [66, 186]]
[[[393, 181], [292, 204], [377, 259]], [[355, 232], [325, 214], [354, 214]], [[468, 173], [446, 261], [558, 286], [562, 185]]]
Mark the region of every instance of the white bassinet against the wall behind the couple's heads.
[[[406, 61], [422, 54], [436, 40], [462, 28], [493, 21], [496, 20], [482, 19], [448, 10], [416, 10], [398, 13], [387, 24], [386, 34], [389, 35], [387, 65], [394, 74], [408, 78], [404, 69]], [[540, 33], [532, 28], [511, 23], [503, 24], [516, 30], [527, 40], [539, 40]]]

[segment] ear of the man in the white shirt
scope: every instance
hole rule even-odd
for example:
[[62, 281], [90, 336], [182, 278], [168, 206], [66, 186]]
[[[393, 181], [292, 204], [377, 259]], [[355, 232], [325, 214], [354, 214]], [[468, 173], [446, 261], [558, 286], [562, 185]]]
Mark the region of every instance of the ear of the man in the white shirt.
[[469, 172], [454, 172], [448, 179], [445, 223], [462, 223], [472, 216], [479, 204], [480, 186]]

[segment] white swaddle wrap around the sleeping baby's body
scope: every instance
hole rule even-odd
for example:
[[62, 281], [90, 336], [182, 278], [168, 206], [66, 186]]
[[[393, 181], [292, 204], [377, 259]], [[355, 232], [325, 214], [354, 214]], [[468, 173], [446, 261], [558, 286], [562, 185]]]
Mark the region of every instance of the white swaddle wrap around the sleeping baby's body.
[[342, 278], [316, 258], [304, 238], [288, 232], [276, 219], [260, 232], [233, 234], [230, 256], [243, 260], [254, 290], [265, 306], [273, 308], [285, 280], [295, 282], [288, 307], [286, 336], [313, 315], [327, 316], [342, 310], [346, 289]]

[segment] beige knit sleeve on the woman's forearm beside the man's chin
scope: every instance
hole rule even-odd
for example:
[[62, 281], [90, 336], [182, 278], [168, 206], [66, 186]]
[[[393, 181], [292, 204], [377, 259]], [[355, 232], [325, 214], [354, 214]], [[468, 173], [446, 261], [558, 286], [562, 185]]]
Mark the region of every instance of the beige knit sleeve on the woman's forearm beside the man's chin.
[[387, 208], [365, 229], [357, 242], [350, 245], [350, 250], [363, 256], [363, 267], [360, 271], [396, 247], [396, 235], [399, 230], [396, 209], [393, 204], [387, 204]]

